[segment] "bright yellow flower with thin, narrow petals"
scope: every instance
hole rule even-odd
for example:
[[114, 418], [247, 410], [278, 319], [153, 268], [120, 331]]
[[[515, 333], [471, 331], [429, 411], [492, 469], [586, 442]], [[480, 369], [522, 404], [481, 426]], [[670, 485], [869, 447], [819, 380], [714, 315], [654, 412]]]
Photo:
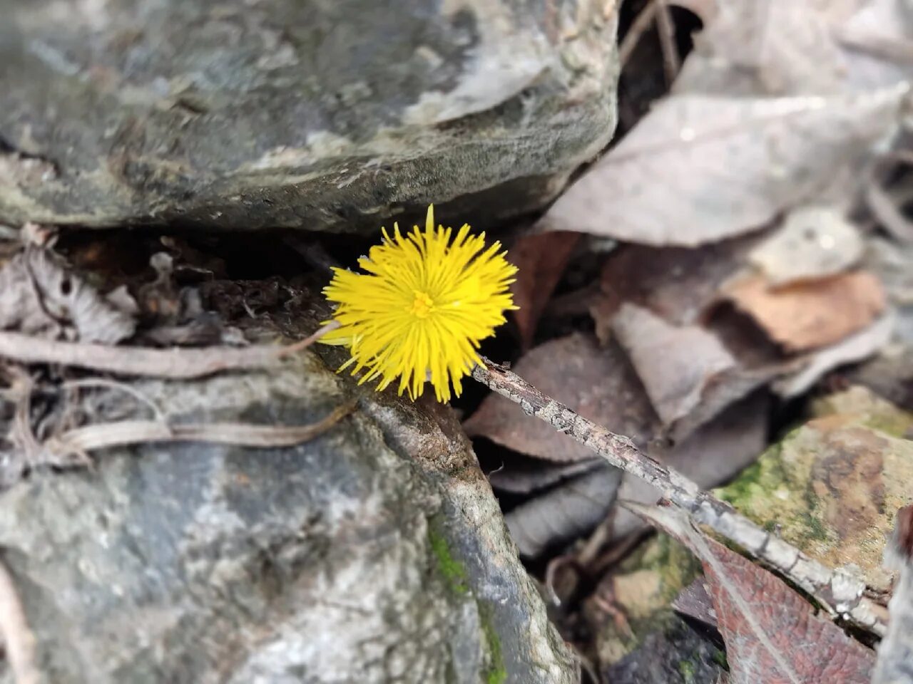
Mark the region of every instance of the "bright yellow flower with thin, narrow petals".
[[333, 269], [323, 294], [338, 303], [340, 327], [320, 341], [348, 346], [342, 368], [366, 369], [360, 382], [380, 378], [378, 391], [400, 378], [399, 393], [417, 399], [430, 379], [438, 401], [450, 399], [451, 383], [458, 397], [480, 362], [478, 343], [517, 308], [508, 290], [517, 268], [500, 243], [485, 249], [485, 233], [470, 235], [467, 224], [451, 242], [452, 228], [435, 228], [433, 205], [424, 233], [416, 225], [403, 236], [394, 223], [391, 239], [382, 230], [383, 243], [358, 260], [366, 274]]

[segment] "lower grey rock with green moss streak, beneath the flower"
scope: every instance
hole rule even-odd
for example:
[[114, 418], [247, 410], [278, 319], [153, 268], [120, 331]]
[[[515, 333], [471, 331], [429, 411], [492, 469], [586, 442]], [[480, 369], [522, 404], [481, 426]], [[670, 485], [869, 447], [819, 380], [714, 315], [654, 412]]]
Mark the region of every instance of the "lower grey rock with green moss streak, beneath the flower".
[[0, 494], [47, 682], [579, 681], [450, 409], [355, 388], [311, 353], [133, 387], [175, 422], [305, 424], [360, 399], [297, 448], [111, 449]]

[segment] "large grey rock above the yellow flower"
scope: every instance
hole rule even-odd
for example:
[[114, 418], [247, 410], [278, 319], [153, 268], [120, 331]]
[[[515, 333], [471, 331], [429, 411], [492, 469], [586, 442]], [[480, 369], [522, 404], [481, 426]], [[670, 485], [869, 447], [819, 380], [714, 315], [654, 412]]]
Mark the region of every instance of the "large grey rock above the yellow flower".
[[528, 212], [614, 130], [617, 5], [0, 0], [0, 223]]

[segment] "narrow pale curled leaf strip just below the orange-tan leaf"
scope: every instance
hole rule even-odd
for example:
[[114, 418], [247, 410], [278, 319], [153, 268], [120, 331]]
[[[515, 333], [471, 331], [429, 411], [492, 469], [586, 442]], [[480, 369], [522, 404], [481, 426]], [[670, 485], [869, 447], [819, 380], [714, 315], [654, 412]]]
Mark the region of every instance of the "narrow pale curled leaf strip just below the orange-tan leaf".
[[783, 399], [804, 394], [825, 373], [845, 364], [868, 358], [884, 348], [894, 331], [896, 316], [888, 312], [871, 326], [845, 337], [831, 347], [824, 347], [813, 353], [805, 367], [786, 378], [773, 383], [773, 389]]

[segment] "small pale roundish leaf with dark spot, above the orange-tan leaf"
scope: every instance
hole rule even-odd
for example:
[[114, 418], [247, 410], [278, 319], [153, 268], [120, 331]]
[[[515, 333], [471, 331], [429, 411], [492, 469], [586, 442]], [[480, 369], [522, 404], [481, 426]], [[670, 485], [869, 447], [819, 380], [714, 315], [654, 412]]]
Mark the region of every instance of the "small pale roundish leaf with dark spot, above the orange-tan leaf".
[[855, 264], [865, 244], [834, 207], [806, 206], [787, 214], [782, 227], [751, 250], [749, 261], [771, 285], [836, 275]]

